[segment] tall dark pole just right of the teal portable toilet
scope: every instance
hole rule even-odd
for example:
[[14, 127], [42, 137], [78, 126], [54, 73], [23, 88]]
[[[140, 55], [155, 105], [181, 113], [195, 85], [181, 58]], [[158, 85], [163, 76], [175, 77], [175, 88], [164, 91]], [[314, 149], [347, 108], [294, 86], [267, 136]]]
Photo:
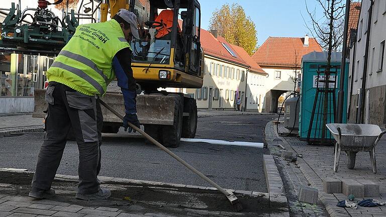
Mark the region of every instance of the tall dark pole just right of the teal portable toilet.
[[343, 49], [342, 49], [342, 65], [340, 66], [340, 80], [338, 91], [338, 105], [337, 105], [337, 120], [336, 123], [343, 122], [343, 100], [344, 100], [344, 78], [346, 73], [346, 47], [347, 47], [347, 34], [348, 34], [348, 20], [350, 16], [350, 0], [346, 0], [346, 15], [344, 18], [344, 31], [343, 31]]

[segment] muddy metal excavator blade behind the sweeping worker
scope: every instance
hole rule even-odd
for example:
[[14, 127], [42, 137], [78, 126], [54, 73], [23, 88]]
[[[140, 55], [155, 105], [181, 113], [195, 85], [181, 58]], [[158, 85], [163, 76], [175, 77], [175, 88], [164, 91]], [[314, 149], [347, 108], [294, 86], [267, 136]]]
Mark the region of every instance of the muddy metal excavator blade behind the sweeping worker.
[[[46, 90], [35, 89], [35, 107], [32, 117], [44, 118], [44, 111], [47, 110], [45, 100]], [[106, 93], [102, 98], [106, 103], [125, 115], [125, 105], [121, 93]], [[173, 96], [164, 95], [138, 95], [137, 112], [138, 120], [141, 124], [151, 125], [173, 125], [174, 122], [174, 100]], [[122, 123], [116, 115], [102, 106], [103, 121], [112, 123]]]

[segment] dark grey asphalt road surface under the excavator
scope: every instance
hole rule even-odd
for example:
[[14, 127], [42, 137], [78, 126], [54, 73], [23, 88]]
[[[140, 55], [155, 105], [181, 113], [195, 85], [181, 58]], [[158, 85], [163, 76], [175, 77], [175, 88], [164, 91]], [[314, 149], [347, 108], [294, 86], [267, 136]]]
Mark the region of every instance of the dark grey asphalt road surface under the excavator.
[[[265, 124], [275, 116], [248, 115], [200, 118], [197, 137], [264, 142]], [[0, 168], [35, 171], [43, 134], [0, 138]], [[181, 142], [172, 151], [225, 188], [266, 192], [262, 155], [267, 149]], [[67, 142], [58, 174], [77, 175], [78, 149]], [[142, 138], [106, 134], [101, 176], [210, 186]]]

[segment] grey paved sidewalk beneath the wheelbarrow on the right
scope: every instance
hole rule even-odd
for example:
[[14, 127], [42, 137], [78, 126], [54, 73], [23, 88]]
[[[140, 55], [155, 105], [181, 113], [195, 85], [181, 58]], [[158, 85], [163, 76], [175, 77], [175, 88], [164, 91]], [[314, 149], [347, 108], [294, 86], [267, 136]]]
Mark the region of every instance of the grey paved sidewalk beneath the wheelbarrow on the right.
[[[319, 198], [326, 207], [330, 216], [353, 216], [364, 217], [373, 216], [380, 217], [386, 216], [386, 206], [380, 207], [361, 207], [357, 209], [341, 208], [336, 206], [340, 200], [347, 199], [347, 196], [343, 193], [325, 193], [323, 190], [322, 180], [325, 178], [338, 178], [340, 180], [345, 179], [359, 179], [359, 180], [371, 180], [379, 184], [380, 195], [379, 197], [371, 197], [378, 199], [381, 202], [386, 199], [386, 150], [384, 145], [386, 139], [383, 138], [378, 143], [376, 148], [377, 157], [377, 173], [372, 173], [372, 167], [367, 152], [359, 152], [356, 157], [356, 164], [354, 169], [348, 169], [345, 165], [347, 157], [343, 152], [340, 159], [340, 165], [338, 172], [333, 171], [334, 164], [334, 147], [333, 146], [310, 146], [306, 142], [302, 142], [297, 137], [284, 137], [278, 138], [273, 129], [272, 122], [269, 122], [266, 126], [267, 129], [271, 129], [271, 134], [266, 135], [266, 140], [271, 141], [273, 144], [271, 148], [272, 153], [278, 153], [280, 148], [274, 146], [274, 144], [282, 145], [287, 151], [294, 152], [295, 155], [301, 154], [302, 158], [298, 157], [296, 164], [290, 163], [294, 168], [298, 168], [301, 171], [309, 185], [319, 190]], [[267, 133], [267, 132], [266, 132]], [[284, 163], [286, 164], [286, 163]], [[361, 201], [365, 198], [355, 198], [355, 202]]]

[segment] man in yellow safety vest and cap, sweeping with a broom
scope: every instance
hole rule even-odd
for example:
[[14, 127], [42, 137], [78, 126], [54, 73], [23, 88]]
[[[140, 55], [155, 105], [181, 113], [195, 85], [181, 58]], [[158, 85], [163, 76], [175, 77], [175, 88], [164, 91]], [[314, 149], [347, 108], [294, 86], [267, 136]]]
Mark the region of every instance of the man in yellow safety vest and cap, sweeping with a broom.
[[45, 136], [29, 196], [55, 195], [51, 184], [60, 164], [70, 129], [79, 149], [78, 199], [106, 199], [111, 192], [100, 187], [103, 116], [99, 97], [117, 77], [125, 100], [125, 130], [139, 127], [136, 111], [136, 83], [131, 68], [128, 41], [139, 39], [137, 17], [121, 9], [105, 23], [84, 24], [60, 51], [47, 71], [48, 113]]

